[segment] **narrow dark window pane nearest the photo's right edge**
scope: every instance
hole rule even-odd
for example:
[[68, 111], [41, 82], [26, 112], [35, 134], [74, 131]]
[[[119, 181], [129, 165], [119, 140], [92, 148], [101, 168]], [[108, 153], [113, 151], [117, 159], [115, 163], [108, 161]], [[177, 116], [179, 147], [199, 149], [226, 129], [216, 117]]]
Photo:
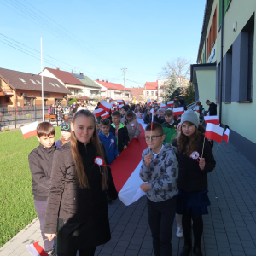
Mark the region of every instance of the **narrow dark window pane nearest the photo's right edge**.
[[247, 85], [247, 101], [252, 101], [253, 96], [253, 55], [254, 55], [254, 27], [249, 32], [249, 45], [248, 45], [248, 85]]

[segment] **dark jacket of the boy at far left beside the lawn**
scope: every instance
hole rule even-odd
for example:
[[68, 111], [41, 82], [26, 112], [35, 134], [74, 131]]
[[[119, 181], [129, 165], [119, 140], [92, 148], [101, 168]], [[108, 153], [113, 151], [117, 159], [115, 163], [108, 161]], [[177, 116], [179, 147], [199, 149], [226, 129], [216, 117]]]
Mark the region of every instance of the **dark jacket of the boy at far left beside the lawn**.
[[56, 147], [44, 148], [42, 144], [28, 155], [29, 168], [32, 173], [32, 193], [34, 199], [47, 201], [52, 160]]

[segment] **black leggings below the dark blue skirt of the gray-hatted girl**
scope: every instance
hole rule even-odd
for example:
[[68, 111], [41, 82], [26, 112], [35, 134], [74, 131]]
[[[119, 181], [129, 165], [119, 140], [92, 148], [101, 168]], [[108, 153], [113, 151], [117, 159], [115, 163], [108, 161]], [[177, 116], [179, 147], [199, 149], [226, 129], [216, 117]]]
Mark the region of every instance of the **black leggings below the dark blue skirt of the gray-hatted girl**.
[[183, 235], [185, 243], [191, 243], [191, 218], [193, 220], [193, 234], [195, 245], [201, 245], [201, 236], [203, 233], [203, 220], [201, 215], [186, 214], [183, 215]]

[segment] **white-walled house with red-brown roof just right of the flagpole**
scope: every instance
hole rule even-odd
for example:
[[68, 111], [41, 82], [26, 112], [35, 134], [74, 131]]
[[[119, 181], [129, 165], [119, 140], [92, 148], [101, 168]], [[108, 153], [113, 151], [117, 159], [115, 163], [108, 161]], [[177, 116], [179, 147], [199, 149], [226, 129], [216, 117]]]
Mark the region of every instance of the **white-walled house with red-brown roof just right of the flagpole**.
[[58, 67], [56, 69], [45, 67], [43, 70], [45, 77], [54, 78], [64, 85], [69, 90], [68, 99], [76, 98], [81, 101], [83, 96], [86, 96], [86, 86], [83, 82], [73, 76], [72, 73], [62, 71]]

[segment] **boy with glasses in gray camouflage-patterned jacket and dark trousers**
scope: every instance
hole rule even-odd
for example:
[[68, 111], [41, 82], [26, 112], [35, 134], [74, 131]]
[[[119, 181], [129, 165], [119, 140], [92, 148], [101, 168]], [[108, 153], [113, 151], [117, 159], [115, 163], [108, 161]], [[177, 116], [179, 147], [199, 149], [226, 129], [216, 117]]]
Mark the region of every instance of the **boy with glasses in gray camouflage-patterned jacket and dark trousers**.
[[172, 255], [172, 224], [176, 211], [178, 164], [175, 151], [165, 139], [158, 123], [147, 125], [145, 140], [149, 148], [143, 151], [140, 187], [148, 197], [148, 224], [153, 237], [155, 256]]

